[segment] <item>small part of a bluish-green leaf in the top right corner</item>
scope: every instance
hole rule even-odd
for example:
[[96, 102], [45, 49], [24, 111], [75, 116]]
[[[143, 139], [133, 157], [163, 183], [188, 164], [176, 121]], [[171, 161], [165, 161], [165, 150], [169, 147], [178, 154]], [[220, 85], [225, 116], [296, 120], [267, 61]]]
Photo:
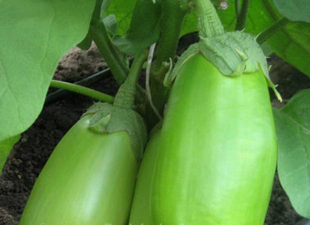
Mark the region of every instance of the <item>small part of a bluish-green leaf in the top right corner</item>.
[[273, 0], [277, 10], [291, 21], [310, 22], [309, 0]]

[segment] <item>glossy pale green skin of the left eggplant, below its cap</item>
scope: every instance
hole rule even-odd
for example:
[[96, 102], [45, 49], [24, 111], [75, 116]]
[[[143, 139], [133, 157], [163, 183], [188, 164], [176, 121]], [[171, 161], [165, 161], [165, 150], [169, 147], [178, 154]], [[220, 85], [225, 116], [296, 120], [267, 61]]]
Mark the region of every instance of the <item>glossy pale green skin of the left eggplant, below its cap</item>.
[[125, 225], [137, 163], [126, 132], [95, 134], [80, 119], [61, 139], [30, 194], [20, 225]]

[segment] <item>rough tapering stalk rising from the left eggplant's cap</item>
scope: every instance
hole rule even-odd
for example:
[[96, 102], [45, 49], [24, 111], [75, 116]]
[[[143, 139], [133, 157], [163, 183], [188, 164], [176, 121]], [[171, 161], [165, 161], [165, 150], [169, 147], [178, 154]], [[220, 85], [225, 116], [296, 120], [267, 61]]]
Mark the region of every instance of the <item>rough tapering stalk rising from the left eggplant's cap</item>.
[[133, 59], [129, 74], [125, 82], [119, 87], [115, 96], [114, 106], [125, 109], [132, 109], [134, 105], [134, 97], [136, 92], [136, 83], [140, 75], [141, 68], [147, 57], [147, 51]]

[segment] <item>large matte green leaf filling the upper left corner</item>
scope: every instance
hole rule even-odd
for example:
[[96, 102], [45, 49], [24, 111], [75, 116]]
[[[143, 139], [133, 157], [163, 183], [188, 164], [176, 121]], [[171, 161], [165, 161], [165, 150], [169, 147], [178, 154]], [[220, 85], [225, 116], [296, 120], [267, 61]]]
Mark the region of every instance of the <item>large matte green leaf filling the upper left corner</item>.
[[37, 118], [59, 59], [87, 34], [94, 0], [0, 0], [0, 141]]

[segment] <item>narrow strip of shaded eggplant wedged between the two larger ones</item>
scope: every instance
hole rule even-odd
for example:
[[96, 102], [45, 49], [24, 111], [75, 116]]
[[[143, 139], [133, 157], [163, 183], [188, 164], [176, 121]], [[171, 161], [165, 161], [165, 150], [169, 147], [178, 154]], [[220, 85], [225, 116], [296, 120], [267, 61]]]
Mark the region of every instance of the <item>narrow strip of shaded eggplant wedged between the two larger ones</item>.
[[134, 198], [131, 206], [129, 224], [150, 225], [151, 224], [151, 196], [150, 187], [152, 174], [155, 169], [155, 162], [160, 141], [160, 131], [156, 131], [147, 143], [144, 156], [139, 168]]

